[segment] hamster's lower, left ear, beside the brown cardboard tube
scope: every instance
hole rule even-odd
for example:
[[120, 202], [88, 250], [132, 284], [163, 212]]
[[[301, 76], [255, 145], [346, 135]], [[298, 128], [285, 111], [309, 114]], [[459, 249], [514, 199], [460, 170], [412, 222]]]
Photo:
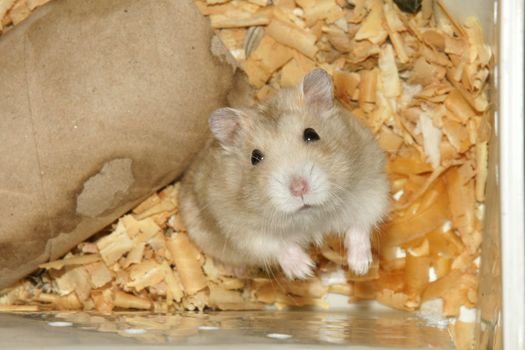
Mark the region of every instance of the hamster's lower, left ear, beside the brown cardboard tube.
[[211, 114], [208, 124], [217, 140], [230, 145], [241, 128], [241, 118], [242, 112], [237, 109], [220, 108]]

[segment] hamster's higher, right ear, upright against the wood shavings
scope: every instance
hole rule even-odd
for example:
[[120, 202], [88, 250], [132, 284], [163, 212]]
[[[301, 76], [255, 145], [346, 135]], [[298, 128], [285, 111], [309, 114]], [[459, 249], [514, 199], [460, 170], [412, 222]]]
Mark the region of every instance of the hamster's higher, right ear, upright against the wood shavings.
[[332, 79], [324, 69], [315, 68], [308, 73], [300, 84], [304, 102], [319, 111], [326, 111], [334, 106], [334, 87]]

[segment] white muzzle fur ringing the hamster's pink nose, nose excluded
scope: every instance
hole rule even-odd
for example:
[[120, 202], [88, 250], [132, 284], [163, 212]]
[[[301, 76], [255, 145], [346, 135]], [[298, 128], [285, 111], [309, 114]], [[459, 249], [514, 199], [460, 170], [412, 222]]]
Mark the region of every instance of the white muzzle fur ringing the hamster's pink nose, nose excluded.
[[[308, 192], [302, 197], [296, 197], [290, 192], [290, 183], [294, 177], [302, 177], [308, 183]], [[326, 173], [310, 161], [274, 171], [268, 188], [270, 199], [277, 210], [293, 213], [305, 205], [324, 204], [329, 197], [330, 182]]]

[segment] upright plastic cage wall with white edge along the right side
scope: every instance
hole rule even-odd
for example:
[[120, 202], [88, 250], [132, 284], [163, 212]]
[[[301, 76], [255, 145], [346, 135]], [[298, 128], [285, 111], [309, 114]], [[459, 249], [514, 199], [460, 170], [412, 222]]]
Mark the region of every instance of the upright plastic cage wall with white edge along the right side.
[[477, 16], [494, 51], [493, 118], [479, 287], [480, 349], [524, 349], [523, 0], [444, 1]]

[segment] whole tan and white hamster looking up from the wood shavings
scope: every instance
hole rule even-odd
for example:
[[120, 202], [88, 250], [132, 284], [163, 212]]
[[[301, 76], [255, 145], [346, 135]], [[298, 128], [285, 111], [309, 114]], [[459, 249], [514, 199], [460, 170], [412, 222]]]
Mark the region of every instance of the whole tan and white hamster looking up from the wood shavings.
[[349, 268], [368, 271], [370, 232], [388, 208], [385, 155], [337, 105], [324, 70], [253, 108], [216, 110], [209, 128], [179, 192], [188, 234], [204, 253], [234, 269], [278, 265], [304, 279], [314, 268], [308, 246], [337, 232]]

